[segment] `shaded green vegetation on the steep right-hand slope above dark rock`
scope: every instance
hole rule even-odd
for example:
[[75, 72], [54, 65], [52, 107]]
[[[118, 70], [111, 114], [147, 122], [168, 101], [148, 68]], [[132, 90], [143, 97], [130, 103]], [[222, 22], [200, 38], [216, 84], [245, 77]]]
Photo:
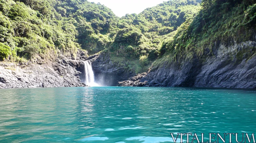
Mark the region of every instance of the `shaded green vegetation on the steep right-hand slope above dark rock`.
[[[219, 44], [228, 46], [252, 41], [256, 30], [255, 3], [255, 0], [202, 0], [202, 9], [196, 17], [184, 22], [177, 34], [163, 44], [164, 56], [172, 56], [174, 61], [181, 62], [180, 59], [191, 59], [194, 55], [205, 57], [207, 50], [211, 55], [212, 48]], [[241, 62], [244, 53], [237, 53], [238, 61]], [[159, 65], [159, 62], [155, 64]]]

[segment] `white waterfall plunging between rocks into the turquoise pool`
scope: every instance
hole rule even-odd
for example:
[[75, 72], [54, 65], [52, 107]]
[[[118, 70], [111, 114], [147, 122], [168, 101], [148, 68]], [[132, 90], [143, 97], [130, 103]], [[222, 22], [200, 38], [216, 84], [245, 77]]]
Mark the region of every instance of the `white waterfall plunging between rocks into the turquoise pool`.
[[98, 87], [99, 85], [94, 82], [94, 73], [92, 71], [92, 64], [90, 61], [84, 61], [84, 83], [90, 87]]

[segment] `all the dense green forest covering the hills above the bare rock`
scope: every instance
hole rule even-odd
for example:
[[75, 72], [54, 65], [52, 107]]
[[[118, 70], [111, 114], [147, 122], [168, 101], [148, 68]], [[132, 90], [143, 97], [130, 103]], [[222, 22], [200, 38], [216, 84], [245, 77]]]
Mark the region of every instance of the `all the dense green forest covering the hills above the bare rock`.
[[255, 3], [171, 0], [119, 18], [86, 0], [0, 0], [0, 60], [54, 60], [60, 53], [76, 56], [79, 48], [109, 53], [116, 66], [145, 72], [152, 63], [209, 56], [220, 42], [250, 40]]

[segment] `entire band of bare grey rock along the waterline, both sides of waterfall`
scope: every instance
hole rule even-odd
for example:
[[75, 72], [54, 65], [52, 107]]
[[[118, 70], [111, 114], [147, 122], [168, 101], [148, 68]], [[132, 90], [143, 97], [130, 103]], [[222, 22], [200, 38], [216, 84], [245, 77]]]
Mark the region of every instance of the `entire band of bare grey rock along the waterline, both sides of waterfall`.
[[102, 86], [256, 88], [255, 41], [220, 45], [205, 53], [209, 55], [204, 60], [194, 56], [180, 63], [165, 62], [137, 75], [113, 63], [108, 53], [88, 57], [82, 50], [76, 57], [59, 56], [53, 62], [1, 62], [0, 88], [86, 86], [85, 60], [92, 61], [95, 81]]

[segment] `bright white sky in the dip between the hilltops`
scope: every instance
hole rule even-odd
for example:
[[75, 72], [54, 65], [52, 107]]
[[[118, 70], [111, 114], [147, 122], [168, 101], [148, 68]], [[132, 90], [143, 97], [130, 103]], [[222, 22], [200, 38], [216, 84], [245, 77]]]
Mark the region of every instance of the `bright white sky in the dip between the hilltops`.
[[148, 7], [156, 6], [167, 0], [88, 0], [89, 2], [104, 4], [110, 8], [117, 16], [125, 14], [139, 14]]

